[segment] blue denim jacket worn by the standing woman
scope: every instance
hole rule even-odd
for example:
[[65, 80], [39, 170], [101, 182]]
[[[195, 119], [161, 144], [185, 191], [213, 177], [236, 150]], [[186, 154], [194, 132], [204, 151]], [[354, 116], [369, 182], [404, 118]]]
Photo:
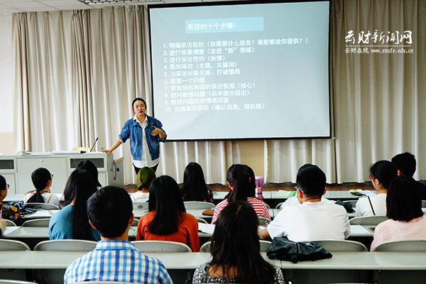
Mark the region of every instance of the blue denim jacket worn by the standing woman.
[[[164, 139], [160, 138], [160, 134], [152, 136], [151, 132], [154, 130], [154, 126], [158, 129], [163, 129], [163, 124], [158, 119], [154, 119], [152, 116], [148, 116], [148, 123], [145, 127], [146, 143], [148, 143], [149, 153], [153, 160], [160, 157], [160, 141], [165, 142], [167, 134]], [[164, 131], [165, 133], [165, 131]], [[124, 123], [123, 128], [119, 134], [119, 139], [122, 143], [126, 142], [130, 138], [130, 151], [133, 156], [133, 160], [141, 160], [142, 156], [142, 127], [138, 124], [138, 121], [129, 119]]]

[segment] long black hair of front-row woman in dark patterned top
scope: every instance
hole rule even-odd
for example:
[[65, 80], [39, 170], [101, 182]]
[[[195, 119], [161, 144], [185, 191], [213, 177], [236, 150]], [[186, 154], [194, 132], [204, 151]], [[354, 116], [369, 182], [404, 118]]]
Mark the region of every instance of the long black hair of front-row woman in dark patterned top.
[[258, 217], [249, 202], [231, 202], [217, 218], [210, 252], [210, 266], [222, 268], [223, 276], [236, 271], [238, 283], [273, 283], [275, 270], [261, 256]]

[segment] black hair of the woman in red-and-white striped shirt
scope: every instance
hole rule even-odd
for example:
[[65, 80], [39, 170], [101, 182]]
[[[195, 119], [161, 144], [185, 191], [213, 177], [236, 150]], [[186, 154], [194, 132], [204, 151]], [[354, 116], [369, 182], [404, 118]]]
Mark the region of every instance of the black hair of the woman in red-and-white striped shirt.
[[247, 201], [248, 197], [255, 196], [255, 189], [250, 183], [250, 174], [246, 165], [231, 165], [228, 169], [226, 180], [228, 180], [232, 187], [232, 190], [228, 195], [228, 202], [236, 200]]

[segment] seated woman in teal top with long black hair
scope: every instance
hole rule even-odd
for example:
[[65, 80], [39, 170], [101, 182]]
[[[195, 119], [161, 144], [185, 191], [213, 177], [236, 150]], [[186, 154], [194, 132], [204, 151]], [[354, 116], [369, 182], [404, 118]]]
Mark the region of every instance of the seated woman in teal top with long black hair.
[[65, 207], [50, 218], [49, 239], [101, 239], [87, 218], [87, 200], [96, 191], [96, 181], [87, 170], [71, 173], [64, 190]]

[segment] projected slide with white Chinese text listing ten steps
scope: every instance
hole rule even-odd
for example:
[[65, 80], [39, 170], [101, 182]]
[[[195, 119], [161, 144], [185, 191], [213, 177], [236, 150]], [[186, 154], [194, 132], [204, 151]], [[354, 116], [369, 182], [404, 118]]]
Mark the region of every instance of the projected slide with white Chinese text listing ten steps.
[[149, 13], [154, 116], [169, 140], [330, 136], [328, 1]]

